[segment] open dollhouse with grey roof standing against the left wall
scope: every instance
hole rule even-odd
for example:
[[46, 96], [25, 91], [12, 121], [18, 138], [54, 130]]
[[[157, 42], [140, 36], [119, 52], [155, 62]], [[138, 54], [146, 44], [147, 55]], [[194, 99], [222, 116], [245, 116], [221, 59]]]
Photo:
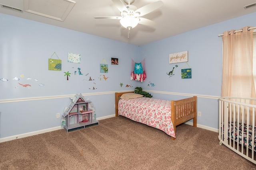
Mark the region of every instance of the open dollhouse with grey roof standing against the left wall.
[[86, 101], [82, 94], [77, 94], [74, 98], [70, 98], [70, 100], [70, 104], [62, 115], [66, 119], [64, 129], [67, 132], [99, 124], [96, 119], [93, 119], [93, 110], [88, 107], [91, 101]]

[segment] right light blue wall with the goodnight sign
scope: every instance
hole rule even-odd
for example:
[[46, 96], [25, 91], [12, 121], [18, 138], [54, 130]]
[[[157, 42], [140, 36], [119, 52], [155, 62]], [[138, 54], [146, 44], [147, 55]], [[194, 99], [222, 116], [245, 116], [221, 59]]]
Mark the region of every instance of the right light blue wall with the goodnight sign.
[[[146, 59], [147, 69], [143, 89], [198, 96], [198, 111], [202, 116], [198, 117], [197, 123], [218, 129], [218, 97], [222, 84], [222, 37], [218, 35], [231, 29], [255, 27], [255, 17], [256, 13], [252, 13], [140, 46], [140, 59]], [[181, 78], [185, 63], [169, 64], [169, 54], [182, 51], [188, 51], [191, 79]], [[166, 72], [173, 67], [175, 75], [169, 77]], [[189, 67], [186, 65], [184, 68]], [[150, 86], [150, 83], [155, 86]], [[184, 98], [182, 95], [152, 95], [167, 100]]]

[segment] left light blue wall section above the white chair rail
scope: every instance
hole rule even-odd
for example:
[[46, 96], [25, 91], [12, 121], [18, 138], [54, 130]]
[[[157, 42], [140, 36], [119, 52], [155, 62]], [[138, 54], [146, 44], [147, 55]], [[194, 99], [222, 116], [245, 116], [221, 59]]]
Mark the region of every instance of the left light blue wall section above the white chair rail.
[[[120, 82], [131, 84], [124, 75], [130, 74], [131, 64], [127, 63], [138, 57], [138, 46], [4, 14], [0, 21], [0, 77], [8, 79], [1, 81], [0, 99], [116, 91], [124, 89]], [[62, 59], [61, 71], [48, 70], [48, 59], [54, 52]], [[80, 54], [81, 63], [68, 63], [68, 53]], [[111, 65], [111, 57], [118, 58], [119, 64]], [[104, 58], [109, 66], [107, 81], [100, 73]], [[83, 75], [78, 75], [78, 67]], [[68, 81], [64, 77], [67, 71], [72, 73]], [[93, 81], [88, 81], [90, 76]], [[18, 82], [32, 87], [23, 88]], [[97, 90], [89, 89], [93, 87]]]

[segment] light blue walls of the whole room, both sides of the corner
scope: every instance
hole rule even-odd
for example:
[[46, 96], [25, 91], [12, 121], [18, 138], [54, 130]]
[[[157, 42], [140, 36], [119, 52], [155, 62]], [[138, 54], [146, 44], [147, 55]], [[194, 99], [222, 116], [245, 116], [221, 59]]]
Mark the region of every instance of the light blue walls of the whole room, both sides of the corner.
[[[249, 14], [138, 47], [0, 14], [0, 79], [8, 79], [0, 81], [0, 138], [59, 126], [56, 113], [62, 114], [70, 102], [68, 97], [10, 103], [5, 100], [90, 94], [85, 98], [94, 102], [97, 117], [104, 117], [114, 114], [111, 92], [133, 90], [136, 86], [151, 91], [154, 98], [175, 100], [197, 95], [198, 111], [202, 112], [198, 124], [218, 129], [217, 98], [221, 93], [222, 76], [222, 38], [218, 34], [247, 25], [256, 26], [255, 17], [256, 13]], [[168, 63], [169, 54], [180, 51], [188, 51], [191, 79], [181, 79], [185, 63]], [[62, 59], [62, 71], [48, 70], [48, 58], [54, 52]], [[68, 63], [68, 53], [80, 54], [81, 63]], [[111, 57], [118, 58], [119, 64], [111, 65]], [[107, 81], [99, 71], [103, 58], [109, 66]], [[139, 62], [144, 58], [146, 81], [130, 81], [131, 59]], [[175, 75], [169, 77], [166, 72], [175, 65], [178, 65], [174, 68]], [[78, 67], [83, 75], [74, 75]], [[73, 73], [68, 81], [64, 76], [67, 71]], [[89, 76], [94, 80], [88, 81]], [[19, 80], [13, 80], [14, 77]], [[28, 77], [31, 80], [27, 80]], [[18, 82], [32, 87], [25, 88]], [[125, 87], [126, 84], [129, 87]], [[92, 90], [93, 87], [96, 89]]]

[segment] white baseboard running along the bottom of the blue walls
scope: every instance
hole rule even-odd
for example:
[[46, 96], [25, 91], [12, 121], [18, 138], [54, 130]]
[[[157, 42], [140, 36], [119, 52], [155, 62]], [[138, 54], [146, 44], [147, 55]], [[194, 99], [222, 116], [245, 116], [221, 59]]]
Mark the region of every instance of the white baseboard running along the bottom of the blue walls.
[[[115, 114], [108, 115], [108, 116], [103, 116], [103, 117], [98, 117], [98, 118], [96, 118], [96, 120], [99, 121], [99, 120], [102, 120], [102, 119], [108, 119], [110, 117], [115, 117]], [[193, 126], [192, 122], [186, 122], [186, 124]], [[212, 128], [212, 127], [208, 127], [208, 126], [204, 126], [204, 125], [197, 124], [197, 127], [200, 127], [202, 129], [207, 129], [207, 130], [210, 130], [210, 131], [214, 131], [214, 132], [218, 132], [218, 129], [215, 129], [215, 128]], [[14, 135], [14, 136], [10, 136], [10, 137], [4, 137], [4, 138], [0, 138], [0, 143], [6, 142], [6, 141], [12, 141], [12, 140], [15, 140], [15, 139], [20, 139], [20, 138], [23, 138], [23, 137], [29, 137], [29, 136], [33, 136], [33, 135], [38, 135], [38, 134], [41, 134], [41, 133], [56, 131], [56, 130], [59, 130], [59, 129], [61, 129], [61, 126], [52, 127], [52, 128], [49, 128], [49, 129], [43, 129], [43, 130], [40, 130], [40, 131], [23, 133], [23, 134], [20, 134], [20, 135]]]

